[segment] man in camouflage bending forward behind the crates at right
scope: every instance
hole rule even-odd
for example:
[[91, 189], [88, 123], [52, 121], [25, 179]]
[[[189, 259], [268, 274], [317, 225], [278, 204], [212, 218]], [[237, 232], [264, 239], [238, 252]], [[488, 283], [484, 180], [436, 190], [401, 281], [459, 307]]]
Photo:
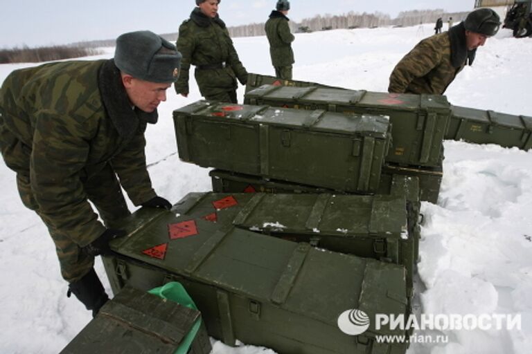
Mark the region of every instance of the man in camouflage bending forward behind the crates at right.
[[500, 24], [495, 11], [479, 8], [448, 32], [423, 39], [393, 69], [388, 91], [443, 94], [465, 64], [473, 63], [477, 48], [497, 33]]

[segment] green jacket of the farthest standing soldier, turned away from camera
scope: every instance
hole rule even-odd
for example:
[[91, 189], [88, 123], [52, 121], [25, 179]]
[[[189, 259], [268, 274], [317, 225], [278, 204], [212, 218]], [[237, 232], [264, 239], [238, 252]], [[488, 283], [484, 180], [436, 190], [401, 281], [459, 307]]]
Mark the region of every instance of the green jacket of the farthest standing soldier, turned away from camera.
[[265, 30], [269, 41], [269, 55], [273, 66], [294, 64], [294, 52], [291, 43], [294, 35], [290, 33], [288, 18], [279, 11], [272, 11], [266, 21]]

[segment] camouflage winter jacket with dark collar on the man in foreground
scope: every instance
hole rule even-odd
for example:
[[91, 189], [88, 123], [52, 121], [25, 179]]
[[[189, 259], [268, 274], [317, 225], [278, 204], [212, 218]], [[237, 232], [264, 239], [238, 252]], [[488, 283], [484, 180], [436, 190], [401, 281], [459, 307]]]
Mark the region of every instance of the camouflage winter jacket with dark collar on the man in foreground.
[[146, 122], [133, 110], [113, 60], [60, 62], [13, 71], [0, 91], [0, 148], [30, 177], [40, 215], [84, 247], [105, 231], [83, 183], [110, 164], [134, 204], [156, 194], [145, 163]]

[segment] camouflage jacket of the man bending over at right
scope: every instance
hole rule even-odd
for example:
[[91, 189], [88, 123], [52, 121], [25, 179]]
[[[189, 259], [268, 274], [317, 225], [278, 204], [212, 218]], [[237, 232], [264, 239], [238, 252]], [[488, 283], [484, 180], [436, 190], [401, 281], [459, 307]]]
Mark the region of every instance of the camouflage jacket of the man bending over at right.
[[[465, 57], [453, 66], [451, 47], [449, 32], [420, 41], [393, 69], [388, 91], [443, 94], [465, 66]], [[465, 48], [461, 48], [463, 50]]]

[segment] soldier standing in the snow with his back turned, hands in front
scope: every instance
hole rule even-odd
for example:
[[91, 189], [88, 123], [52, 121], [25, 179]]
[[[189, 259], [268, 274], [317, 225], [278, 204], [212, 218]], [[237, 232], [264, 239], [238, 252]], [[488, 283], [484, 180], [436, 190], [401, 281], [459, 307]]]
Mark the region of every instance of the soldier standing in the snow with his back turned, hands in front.
[[288, 26], [288, 10], [290, 2], [279, 0], [276, 10], [273, 10], [266, 21], [265, 30], [269, 41], [269, 55], [272, 57], [272, 65], [275, 68], [276, 77], [281, 79], [292, 79], [292, 64], [294, 64], [294, 52], [292, 51], [292, 41], [294, 35], [290, 33]]

